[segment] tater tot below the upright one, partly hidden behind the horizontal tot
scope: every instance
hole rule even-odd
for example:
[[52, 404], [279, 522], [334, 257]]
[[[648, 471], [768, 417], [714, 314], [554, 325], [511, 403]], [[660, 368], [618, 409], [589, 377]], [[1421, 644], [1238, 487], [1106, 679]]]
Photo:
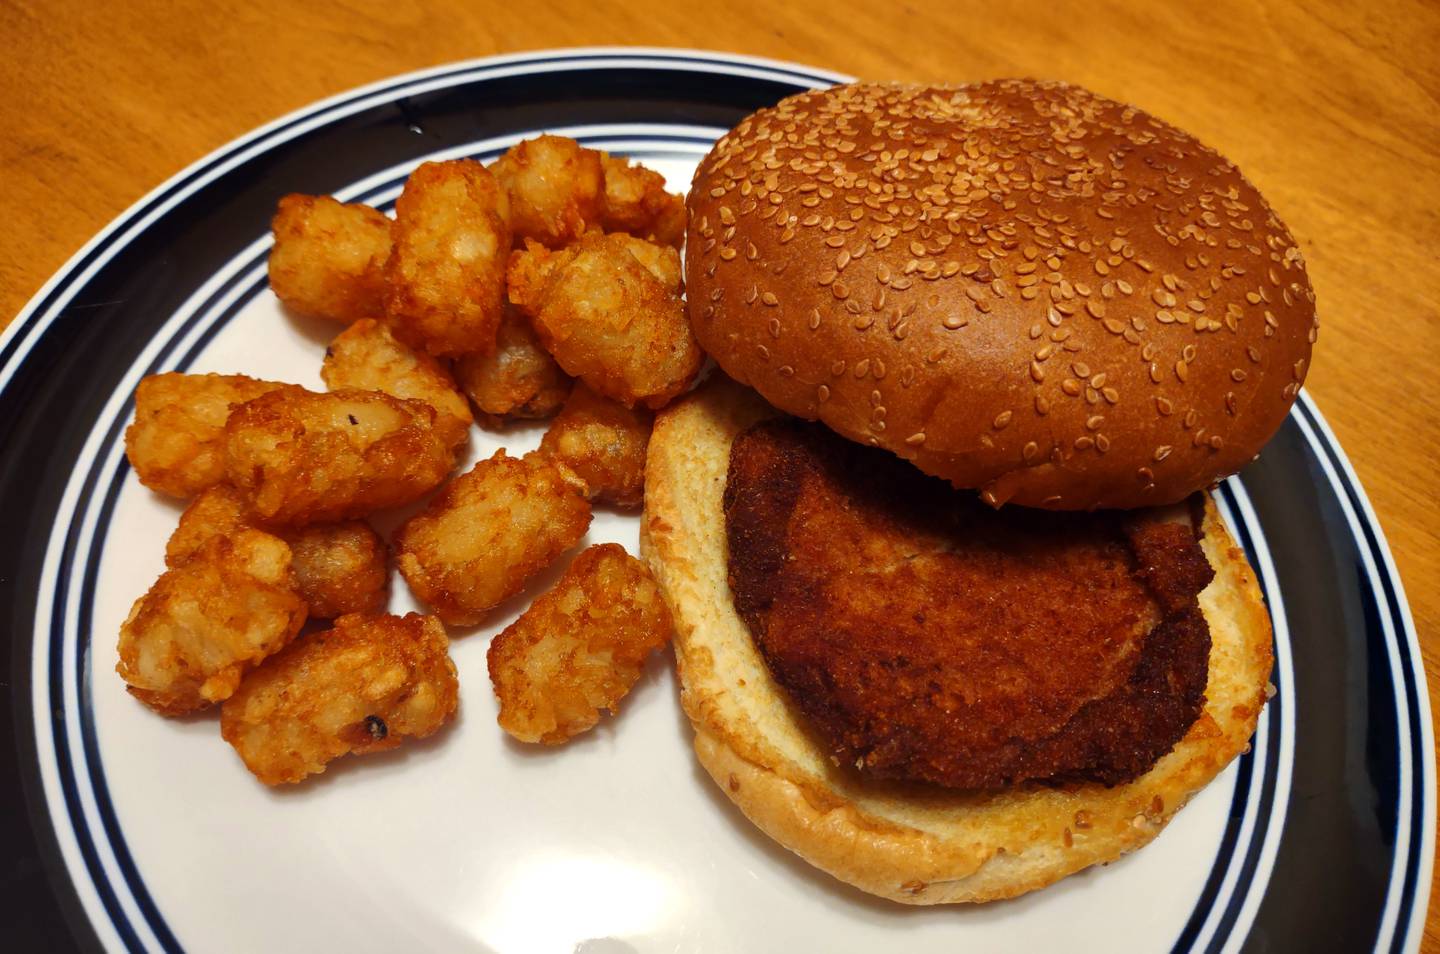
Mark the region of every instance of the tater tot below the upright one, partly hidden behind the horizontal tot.
[[320, 376], [331, 391], [383, 391], [423, 401], [435, 408], [435, 428], [449, 444], [462, 444], [475, 421], [449, 369], [374, 318], [360, 318], [330, 343]]

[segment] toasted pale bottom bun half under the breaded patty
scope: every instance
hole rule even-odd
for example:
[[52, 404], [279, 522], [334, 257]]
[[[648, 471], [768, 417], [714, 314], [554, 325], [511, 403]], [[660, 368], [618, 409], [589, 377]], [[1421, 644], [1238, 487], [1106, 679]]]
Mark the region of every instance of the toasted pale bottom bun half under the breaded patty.
[[681, 703], [696, 755], [760, 830], [811, 865], [903, 904], [995, 901], [1149, 843], [1238, 755], [1264, 708], [1270, 617], [1244, 553], [1207, 499], [1201, 592], [1210, 682], [1195, 725], [1139, 778], [1106, 788], [946, 791], [835, 767], [776, 686], [734, 612], [721, 509], [730, 444], [778, 412], [716, 375], [655, 421], [641, 553], [675, 620]]

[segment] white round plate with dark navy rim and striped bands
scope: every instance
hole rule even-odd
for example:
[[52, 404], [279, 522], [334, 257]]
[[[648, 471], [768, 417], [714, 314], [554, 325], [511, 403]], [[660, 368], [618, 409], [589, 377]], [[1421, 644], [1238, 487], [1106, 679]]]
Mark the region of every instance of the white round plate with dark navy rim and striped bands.
[[[216, 719], [144, 710], [115, 634], [179, 507], [121, 432], [145, 373], [320, 388], [336, 326], [265, 284], [287, 192], [387, 209], [428, 159], [494, 159], [539, 131], [684, 187], [746, 112], [842, 81], [750, 58], [585, 49], [400, 76], [202, 160], [96, 236], [0, 339], [0, 719], [7, 927], [20, 950], [105, 951], [1315, 951], [1417, 950], [1434, 849], [1434, 748], [1414, 625], [1354, 471], [1302, 395], [1217, 497], [1274, 621], [1279, 689], [1253, 748], [1142, 852], [1024, 898], [912, 909], [760, 836], [690, 754], [668, 660], [624, 712], [534, 752], [495, 726], [485, 647], [456, 634], [461, 718], [287, 791]], [[472, 457], [539, 429], [475, 431]], [[636, 520], [590, 542], [631, 550]], [[413, 604], [396, 584], [395, 610]], [[524, 601], [516, 601], [513, 612]], [[511, 615], [513, 615], [511, 612]]]

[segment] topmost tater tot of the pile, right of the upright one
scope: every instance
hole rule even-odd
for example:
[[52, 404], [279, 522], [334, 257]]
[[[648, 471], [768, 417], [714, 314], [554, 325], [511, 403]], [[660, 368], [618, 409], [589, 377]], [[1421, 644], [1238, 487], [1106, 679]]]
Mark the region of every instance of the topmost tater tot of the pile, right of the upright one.
[[510, 147], [490, 167], [510, 195], [517, 239], [560, 248], [600, 220], [605, 170], [600, 153], [563, 135], [540, 135]]

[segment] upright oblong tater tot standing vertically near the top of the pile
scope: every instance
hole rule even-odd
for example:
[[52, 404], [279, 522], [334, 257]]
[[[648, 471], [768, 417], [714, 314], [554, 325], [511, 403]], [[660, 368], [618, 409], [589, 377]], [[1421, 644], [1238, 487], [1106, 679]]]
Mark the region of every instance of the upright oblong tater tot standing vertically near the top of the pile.
[[423, 163], [395, 203], [384, 313], [431, 355], [490, 352], [505, 298], [510, 202], [469, 159]]

